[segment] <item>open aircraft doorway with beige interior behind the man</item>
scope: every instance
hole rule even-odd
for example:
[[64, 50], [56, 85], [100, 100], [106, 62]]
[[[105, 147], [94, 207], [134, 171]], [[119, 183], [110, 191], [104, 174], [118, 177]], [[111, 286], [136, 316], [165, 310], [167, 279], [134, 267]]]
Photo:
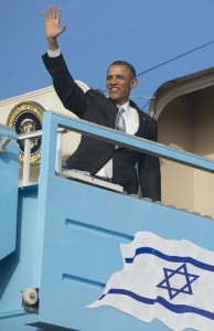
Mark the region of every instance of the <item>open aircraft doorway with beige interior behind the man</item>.
[[[214, 160], [214, 68], [162, 85], [149, 113], [159, 142]], [[162, 202], [214, 217], [214, 174], [160, 161]]]

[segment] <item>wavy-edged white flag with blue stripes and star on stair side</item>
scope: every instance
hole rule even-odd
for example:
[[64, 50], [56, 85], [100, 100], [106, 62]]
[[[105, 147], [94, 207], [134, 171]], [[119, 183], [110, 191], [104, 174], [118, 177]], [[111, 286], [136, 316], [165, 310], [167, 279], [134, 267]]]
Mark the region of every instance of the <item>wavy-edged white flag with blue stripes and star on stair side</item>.
[[88, 308], [111, 306], [145, 322], [157, 318], [174, 331], [214, 330], [213, 252], [149, 232], [120, 249], [124, 269]]

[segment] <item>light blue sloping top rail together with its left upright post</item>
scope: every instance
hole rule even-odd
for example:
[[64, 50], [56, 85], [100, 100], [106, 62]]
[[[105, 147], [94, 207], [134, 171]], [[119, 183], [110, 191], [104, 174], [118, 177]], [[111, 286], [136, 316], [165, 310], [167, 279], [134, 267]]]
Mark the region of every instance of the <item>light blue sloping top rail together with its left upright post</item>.
[[[71, 119], [71, 117], [61, 116], [52, 111], [45, 111], [42, 134], [42, 158], [44, 159], [44, 169], [49, 168], [49, 171], [53, 173], [55, 171], [56, 136], [58, 127], [214, 173], [214, 161], [211, 159], [173, 149], [151, 140], [119, 132], [117, 130], [87, 122], [85, 120], [76, 118]], [[54, 141], [55, 143], [53, 143]]]

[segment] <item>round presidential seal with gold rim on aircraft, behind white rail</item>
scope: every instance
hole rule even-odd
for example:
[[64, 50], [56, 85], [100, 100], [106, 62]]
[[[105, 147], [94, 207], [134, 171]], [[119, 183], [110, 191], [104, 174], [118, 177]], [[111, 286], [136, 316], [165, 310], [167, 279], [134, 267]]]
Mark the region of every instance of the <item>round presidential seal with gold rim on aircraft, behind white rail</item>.
[[[42, 129], [44, 108], [34, 102], [23, 102], [12, 108], [7, 125], [13, 127], [18, 135]], [[20, 140], [20, 161], [24, 159], [24, 140]], [[31, 139], [30, 163], [38, 164], [41, 159], [41, 138]]]

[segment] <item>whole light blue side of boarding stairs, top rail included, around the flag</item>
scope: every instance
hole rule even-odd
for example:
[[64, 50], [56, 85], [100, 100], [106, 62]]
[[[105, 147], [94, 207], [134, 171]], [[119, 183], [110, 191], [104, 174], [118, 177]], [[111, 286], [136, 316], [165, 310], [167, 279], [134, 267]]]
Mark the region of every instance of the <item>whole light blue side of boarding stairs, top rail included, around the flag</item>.
[[[106, 281], [122, 268], [120, 243], [129, 243], [138, 231], [163, 238], [186, 238], [214, 250], [214, 223], [161, 204], [114, 193], [55, 175], [57, 122], [87, 130], [105, 139], [193, 167], [214, 163], [146, 140], [106, 130], [98, 126], [44, 114], [42, 164], [36, 188], [20, 190], [18, 244], [13, 254], [0, 261], [0, 329], [19, 331], [50, 327], [82, 331], [167, 330], [160, 321], [143, 323], [110, 307], [87, 309], [103, 292]], [[40, 289], [39, 316], [26, 314], [20, 291]], [[18, 329], [17, 329], [18, 327]], [[28, 330], [23, 327], [20, 330]]]

